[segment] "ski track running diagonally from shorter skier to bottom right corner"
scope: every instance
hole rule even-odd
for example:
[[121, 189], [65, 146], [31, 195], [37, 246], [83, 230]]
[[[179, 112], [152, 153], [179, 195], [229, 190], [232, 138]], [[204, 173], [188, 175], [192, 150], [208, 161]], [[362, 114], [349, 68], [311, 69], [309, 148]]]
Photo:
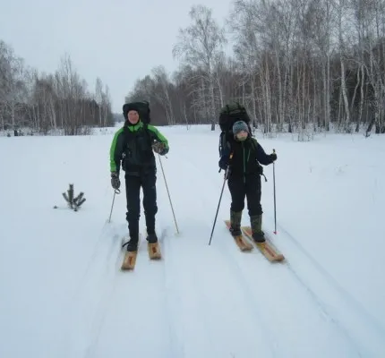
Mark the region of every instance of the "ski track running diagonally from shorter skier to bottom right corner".
[[[270, 217], [270, 216], [267, 216]], [[270, 222], [272, 222], [270, 217]], [[287, 269], [293, 277], [312, 296], [321, 311], [345, 336], [355, 345], [360, 356], [378, 356], [380, 352], [385, 354], [385, 329], [375, 320], [360, 303], [357, 303], [351, 294], [341, 287], [338, 282], [329, 275], [328, 271], [307, 252], [292, 234], [289, 234], [282, 226], [277, 226], [278, 232], [283, 236], [273, 239], [273, 242], [282, 250], [290, 252], [295, 256], [295, 262], [300, 262], [302, 268], [298, 269], [297, 264], [287, 261]], [[270, 237], [272, 235], [270, 234]], [[286, 242], [285, 242], [286, 240]], [[287, 255], [288, 256], [288, 255]], [[304, 265], [306, 269], [304, 269]], [[309, 274], [309, 271], [312, 274]], [[306, 272], [306, 273], [304, 273]], [[305, 276], [312, 277], [311, 282]], [[318, 277], [314, 280], [314, 277]], [[328, 303], [329, 302], [329, 303]], [[338, 307], [336, 310], [334, 307]]]

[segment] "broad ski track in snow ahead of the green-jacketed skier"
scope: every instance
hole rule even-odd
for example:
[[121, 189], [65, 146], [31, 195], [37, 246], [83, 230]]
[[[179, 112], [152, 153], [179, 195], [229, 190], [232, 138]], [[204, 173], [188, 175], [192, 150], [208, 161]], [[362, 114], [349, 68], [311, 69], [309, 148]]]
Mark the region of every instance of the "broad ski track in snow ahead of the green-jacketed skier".
[[[166, 234], [166, 230], [163, 230], [159, 235], [163, 254]], [[172, 315], [168, 313], [166, 304], [163, 260], [150, 261], [144, 235], [141, 235], [133, 272], [120, 270], [124, 250], [120, 247], [117, 250], [119, 255], [115, 265], [114, 291], [108, 294], [108, 300], [105, 301], [107, 311], [99, 320], [98, 332], [92, 335], [93, 340], [85, 356], [120, 356], [127, 346], [134, 356], [172, 356], [172, 332], [167, 328]]]

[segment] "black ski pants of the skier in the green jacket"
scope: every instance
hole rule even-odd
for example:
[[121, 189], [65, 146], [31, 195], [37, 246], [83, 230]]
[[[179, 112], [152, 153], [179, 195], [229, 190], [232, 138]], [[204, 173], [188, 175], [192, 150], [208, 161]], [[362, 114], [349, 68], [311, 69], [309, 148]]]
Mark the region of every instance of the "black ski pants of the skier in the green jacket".
[[148, 234], [155, 234], [155, 215], [157, 206], [157, 169], [151, 168], [139, 175], [125, 175], [127, 197], [128, 230], [130, 246], [137, 246], [139, 239], [139, 218], [141, 217], [141, 189], [143, 191], [143, 209]]

